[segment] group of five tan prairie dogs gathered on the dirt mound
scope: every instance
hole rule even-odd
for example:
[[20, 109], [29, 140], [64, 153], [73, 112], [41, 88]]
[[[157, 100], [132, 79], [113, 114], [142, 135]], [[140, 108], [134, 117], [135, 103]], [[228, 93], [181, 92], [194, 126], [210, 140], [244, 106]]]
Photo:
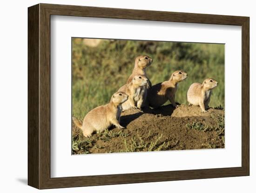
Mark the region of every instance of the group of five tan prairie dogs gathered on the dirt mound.
[[[108, 129], [111, 125], [124, 129], [120, 125], [120, 116], [121, 112], [127, 109], [141, 109], [144, 106], [158, 108], [168, 100], [175, 108], [178, 107], [175, 103], [175, 92], [178, 89], [178, 83], [185, 80], [188, 74], [182, 70], [175, 71], [169, 80], [152, 86], [146, 75], [146, 68], [152, 63], [153, 59], [149, 56], [138, 56], [135, 59], [134, 70], [126, 84], [111, 96], [108, 104], [89, 111], [82, 125], [73, 117], [74, 124], [82, 129], [85, 137], [91, 136], [94, 131], [101, 132]], [[200, 106], [202, 112], [206, 112], [211, 91], [217, 85], [217, 81], [213, 78], [205, 79], [202, 84], [191, 84], [187, 92], [189, 106]]]

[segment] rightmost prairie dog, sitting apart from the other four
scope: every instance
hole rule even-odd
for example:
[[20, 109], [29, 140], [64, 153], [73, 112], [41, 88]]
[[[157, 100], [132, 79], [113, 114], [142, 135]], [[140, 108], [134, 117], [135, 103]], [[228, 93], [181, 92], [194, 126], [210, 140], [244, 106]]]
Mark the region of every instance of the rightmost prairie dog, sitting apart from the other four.
[[202, 112], [205, 113], [210, 102], [212, 89], [214, 89], [217, 85], [218, 82], [213, 78], [205, 79], [202, 84], [191, 84], [187, 93], [189, 106], [191, 106], [192, 104], [200, 106]]

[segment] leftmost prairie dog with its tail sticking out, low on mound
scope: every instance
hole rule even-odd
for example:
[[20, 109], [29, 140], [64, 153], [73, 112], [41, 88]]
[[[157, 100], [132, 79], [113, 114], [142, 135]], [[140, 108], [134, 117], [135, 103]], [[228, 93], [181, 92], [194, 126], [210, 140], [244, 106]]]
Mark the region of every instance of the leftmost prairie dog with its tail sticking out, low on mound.
[[120, 129], [120, 115], [122, 111], [121, 104], [128, 100], [128, 95], [124, 92], [116, 92], [112, 95], [108, 104], [96, 107], [88, 112], [84, 117], [82, 125], [73, 117], [76, 127], [82, 129], [85, 137], [90, 137], [94, 131], [103, 131], [108, 129], [112, 124]]

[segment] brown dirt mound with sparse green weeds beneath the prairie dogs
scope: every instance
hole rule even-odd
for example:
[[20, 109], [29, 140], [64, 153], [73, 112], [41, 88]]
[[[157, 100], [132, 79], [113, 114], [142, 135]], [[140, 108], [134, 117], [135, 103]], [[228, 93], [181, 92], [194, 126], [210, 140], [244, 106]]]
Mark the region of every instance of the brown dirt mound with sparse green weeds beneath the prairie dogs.
[[121, 125], [90, 138], [73, 128], [73, 154], [224, 148], [224, 110], [180, 105], [130, 109]]

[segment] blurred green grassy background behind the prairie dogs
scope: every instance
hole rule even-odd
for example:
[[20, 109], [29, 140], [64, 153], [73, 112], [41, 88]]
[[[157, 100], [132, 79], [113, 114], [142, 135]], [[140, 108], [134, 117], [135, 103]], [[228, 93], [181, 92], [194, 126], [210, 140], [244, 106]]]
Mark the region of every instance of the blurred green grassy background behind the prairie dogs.
[[139, 55], [153, 58], [153, 64], [147, 68], [152, 85], [168, 80], [176, 70], [189, 74], [179, 84], [176, 102], [188, 104], [189, 86], [211, 77], [219, 85], [213, 90], [209, 106], [224, 107], [223, 44], [73, 38], [73, 116], [82, 119], [91, 109], [108, 103], [126, 83]]

